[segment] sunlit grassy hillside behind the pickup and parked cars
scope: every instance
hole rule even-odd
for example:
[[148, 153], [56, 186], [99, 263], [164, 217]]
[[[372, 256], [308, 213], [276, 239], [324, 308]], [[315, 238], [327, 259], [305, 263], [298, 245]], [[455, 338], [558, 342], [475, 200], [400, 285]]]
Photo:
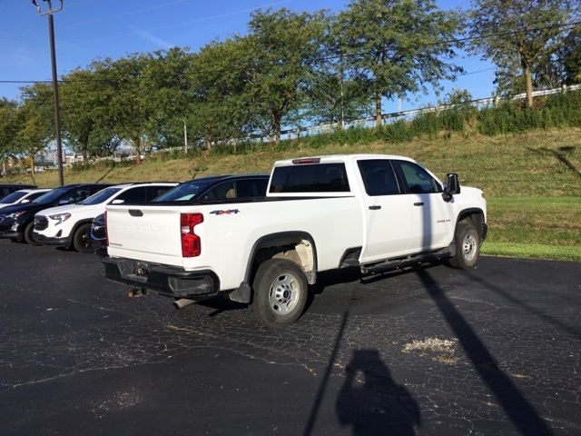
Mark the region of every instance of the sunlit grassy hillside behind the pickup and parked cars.
[[[483, 189], [490, 233], [484, 253], [581, 261], [581, 128], [494, 137], [442, 135], [400, 144], [333, 144], [317, 148], [265, 145], [251, 154], [157, 155], [141, 165], [68, 170], [66, 183], [184, 181], [206, 174], [268, 173], [282, 158], [320, 154], [402, 154], [425, 163], [441, 178], [458, 173], [460, 183]], [[30, 176], [7, 183], [30, 183]], [[55, 186], [56, 173], [34, 177]]]

